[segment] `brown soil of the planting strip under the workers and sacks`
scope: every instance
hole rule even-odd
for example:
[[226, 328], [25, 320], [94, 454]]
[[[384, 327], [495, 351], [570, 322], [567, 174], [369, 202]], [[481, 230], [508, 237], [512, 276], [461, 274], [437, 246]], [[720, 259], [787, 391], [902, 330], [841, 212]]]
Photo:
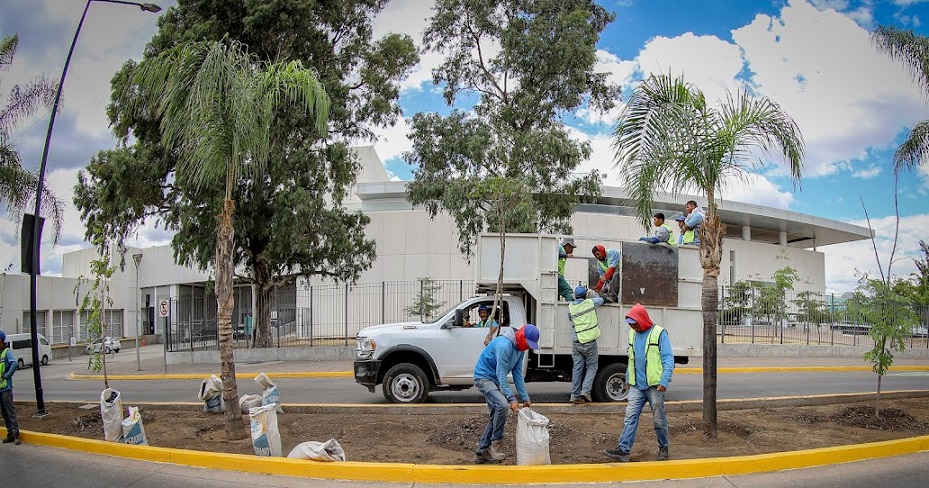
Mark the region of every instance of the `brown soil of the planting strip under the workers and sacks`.
[[[873, 405], [827, 405], [759, 408], [719, 412], [719, 435], [702, 433], [700, 412], [670, 412], [671, 458], [704, 458], [791, 451], [818, 447], [884, 441], [929, 434], [929, 401], [925, 398], [884, 400], [881, 417]], [[622, 428], [624, 407], [611, 413], [585, 413], [578, 406], [571, 413], [546, 414], [551, 420], [550, 452], [555, 464], [611, 462], [601, 451], [612, 448]], [[20, 428], [90, 439], [103, 438], [97, 405], [48, 404], [51, 415], [41, 419], [34, 406], [18, 405]], [[308, 410], [312, 411], [312, 410]], [[470, 409], [473, 412], [473, 409]], [[284, 454], [308, 440], [336, 439], [349, 461], [470, 464], [485, 415], [474, 413], [415, 413], [387, 411], [359, 413], [343, 409], [333, 413], [278, 415]], [[633, 461], [651, 461], [657, 452], [652, 416], [646, 408], [632, 453]], [[222, 414], [208, 414], [194, 407], [149, 406], [142, 420], [152, 446], [254, 454], [251, 439], [227, 441]], [[247, 432], [247, 415], [243, 432]], [[516, 416], [510, 414], [504, 448], [515, 463]]]

